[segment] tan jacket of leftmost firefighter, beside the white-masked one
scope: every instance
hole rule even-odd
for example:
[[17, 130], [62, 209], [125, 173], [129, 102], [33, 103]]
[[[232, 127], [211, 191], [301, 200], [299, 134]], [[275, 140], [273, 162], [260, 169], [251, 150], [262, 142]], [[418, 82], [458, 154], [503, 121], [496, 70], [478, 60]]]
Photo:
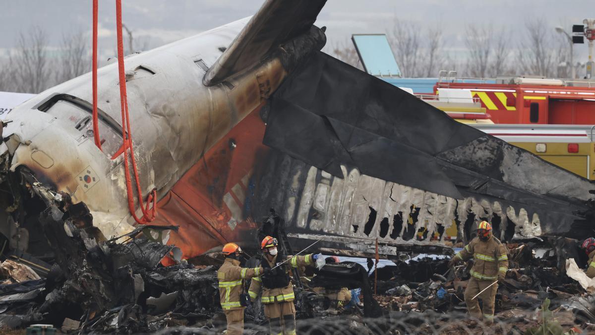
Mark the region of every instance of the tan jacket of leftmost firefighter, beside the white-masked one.
[[237, 259], [226, 258], [219, 271], [219, 299], [224, 311], [243, 308], [240, 305], [240, 293], [244, 287], [244, 280], [262, 274], [262, 268], [242, 268]]

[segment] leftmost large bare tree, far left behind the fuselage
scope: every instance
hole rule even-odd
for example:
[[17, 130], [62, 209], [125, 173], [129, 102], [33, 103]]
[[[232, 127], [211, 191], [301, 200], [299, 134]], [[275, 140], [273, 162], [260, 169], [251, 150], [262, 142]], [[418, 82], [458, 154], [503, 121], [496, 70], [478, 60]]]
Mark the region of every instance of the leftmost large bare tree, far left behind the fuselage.
[[39, 93], [51, 83], [47, 49], [48, 38], [40, 27], [32, 27], [27, 34], [19, 33], [16, 50], [10, 52], [8, 64], [15, 91]]

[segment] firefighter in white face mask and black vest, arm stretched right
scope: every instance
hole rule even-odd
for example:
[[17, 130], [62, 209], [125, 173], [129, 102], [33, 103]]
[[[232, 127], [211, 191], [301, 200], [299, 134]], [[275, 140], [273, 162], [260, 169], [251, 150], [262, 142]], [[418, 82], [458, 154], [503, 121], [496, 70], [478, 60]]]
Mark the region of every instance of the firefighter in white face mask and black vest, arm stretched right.
[[[277, 244], [277, 238], [270, 236], [262, 240], [261, 266], [264, 269], [264, 274], [252, 279], [248, 294], [252, 299], [256, 299], [262, 287], [261, 302], [264, 305], [264, 315], [268, 319], [271, 334], [295, 334], [296, 308], [293, 305], [295, 294], [289, 278], [288, 266], [297, 268], [312, 265], [320, 255], [278, 255]], [[278, 268], [272, 269], [287, 259], [290, 260]]]

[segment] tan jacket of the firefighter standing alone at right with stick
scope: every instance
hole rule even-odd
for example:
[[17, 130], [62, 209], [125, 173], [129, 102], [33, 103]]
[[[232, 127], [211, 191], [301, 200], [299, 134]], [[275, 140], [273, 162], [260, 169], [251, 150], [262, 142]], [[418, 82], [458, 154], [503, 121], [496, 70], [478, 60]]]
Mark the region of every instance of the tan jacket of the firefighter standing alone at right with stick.
[[471, 275], [478, 280], [497, 280], [505, 278], [508, 270], [508, 254], [506, 247], [496, 238], [491, 236], [483, 242], [475, 237], [463, 250], [455, 255], [455, 259], [474, 259]]

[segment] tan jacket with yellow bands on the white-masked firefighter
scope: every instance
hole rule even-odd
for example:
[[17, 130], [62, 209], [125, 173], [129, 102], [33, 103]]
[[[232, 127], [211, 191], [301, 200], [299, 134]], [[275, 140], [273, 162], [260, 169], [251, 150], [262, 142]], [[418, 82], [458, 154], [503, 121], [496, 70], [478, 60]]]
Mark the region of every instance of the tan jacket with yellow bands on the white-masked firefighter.
[[[312, 254], [306, 256], [286, 256], [286, 259], [291, 259], [286, 264], [292, 266], [292, 268], [298, 268], [300, 266], [311, 265], [314, 263], [314, 258], [312, 258]], [[277, 256], [273, 258], [273, 262], [269, 262], [267, 259], [268, 265], [273, 268], [277, 260]], [[284, 259], [285, 260], [285, 259]], [[282, 265], [283, 266], [283, 265]], [[250, 294], [250, 298], [252, 300], [256, 299], [258, 296], [258, 291], [261, 290], [262, 281], [260, 277], [252, 278], [252, 283], [250, 283], [250, 288], [248, 289], [248, 294]], [[267, 287], [262, 287], [262, 295], [261, 295], [261, 302], [262, 303], [273, 303], [277, 301], [293, 301], [295, 300], [295, 294], [293, 293], [293, 284], [289, 283], [286, 287], [281, 287], [279, 289], [268, 289]]]

